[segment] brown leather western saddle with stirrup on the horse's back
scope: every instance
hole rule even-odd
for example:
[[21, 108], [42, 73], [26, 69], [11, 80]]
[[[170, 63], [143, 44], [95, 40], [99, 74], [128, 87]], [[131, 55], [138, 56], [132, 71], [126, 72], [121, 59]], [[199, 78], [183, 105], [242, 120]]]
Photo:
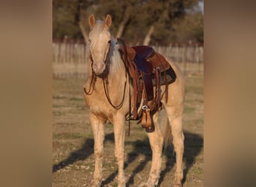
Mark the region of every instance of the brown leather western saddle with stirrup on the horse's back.
[[124, 41], [119, 51], [129, 72], [133, 87], [132, 116], [129, 120], [141, 118], [141, 126], [147, 132], [154, 131], [152, 115], [161, 108], [161, 85], [165, 85], [165, 100], [168, 100], [168, 84], [176, 79], [176, 74], [168, 61], [150, 46], [126, 46]]

